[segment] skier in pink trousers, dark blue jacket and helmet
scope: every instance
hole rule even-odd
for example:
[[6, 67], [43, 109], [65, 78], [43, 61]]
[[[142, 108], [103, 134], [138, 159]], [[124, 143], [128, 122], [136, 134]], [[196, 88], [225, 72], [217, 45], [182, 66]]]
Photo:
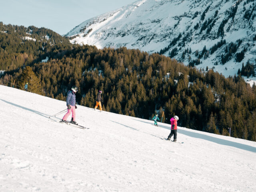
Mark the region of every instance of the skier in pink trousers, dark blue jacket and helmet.
[[72, 86], [71, 90], [68, 91], [67, 99], [66, 99], [68, 112], [64, 115], [64, 117], [60, 121], [61, 123], [62, 122], [68, 123], [67, 118], [72, 112], [72, 118], [71, 118], [70, 123], [77, 124], [76, 123], [76, 108], [77, 108], [77, 106], [76, 106], [76, 92], [77, 91], [78, 91], [78, 88], [76, 86]]

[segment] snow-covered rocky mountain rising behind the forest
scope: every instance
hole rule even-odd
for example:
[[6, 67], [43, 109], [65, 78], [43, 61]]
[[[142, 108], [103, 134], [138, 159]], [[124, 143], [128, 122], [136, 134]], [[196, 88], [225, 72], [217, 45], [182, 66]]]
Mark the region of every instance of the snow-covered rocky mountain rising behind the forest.
[[255, 16], [256, 0], [139, 0], [86, 20], [66, 36], [98, 48], [160, 52], [234, 76], [243, 62], [255, 64]]

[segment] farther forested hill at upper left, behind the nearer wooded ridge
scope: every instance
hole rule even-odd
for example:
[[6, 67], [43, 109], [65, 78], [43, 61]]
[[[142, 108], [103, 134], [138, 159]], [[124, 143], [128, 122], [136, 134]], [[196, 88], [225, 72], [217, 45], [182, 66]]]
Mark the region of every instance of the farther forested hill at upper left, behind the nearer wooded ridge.
[[70, 49], [71, 46], [67, 38], [50, 29], [6, 25], [0, 22], [0, 70], [2, 71], [17, 70], [36, 62], [46, 62], [50, 57]]

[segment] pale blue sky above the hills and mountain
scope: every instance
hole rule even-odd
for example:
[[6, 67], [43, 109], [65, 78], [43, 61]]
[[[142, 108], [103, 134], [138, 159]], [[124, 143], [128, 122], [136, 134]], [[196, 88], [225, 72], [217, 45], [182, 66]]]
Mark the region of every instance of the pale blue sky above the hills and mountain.
[[0, 0], [4, 24], [49, 28], [64, 35], [94, 16], [121, 8], [136, 0]]

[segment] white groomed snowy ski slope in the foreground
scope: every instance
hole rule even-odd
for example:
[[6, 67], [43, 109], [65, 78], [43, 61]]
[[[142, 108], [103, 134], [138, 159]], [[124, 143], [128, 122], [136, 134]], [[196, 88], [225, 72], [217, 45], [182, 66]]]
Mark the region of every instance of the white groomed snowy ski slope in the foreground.
[[256, 142], [178, 127], [174, 143], [169, 124], [78, 106], [83, 130], [48, 118], [66, 102], [6, 86], [0, 106], [1, 192], [256, 191]]

